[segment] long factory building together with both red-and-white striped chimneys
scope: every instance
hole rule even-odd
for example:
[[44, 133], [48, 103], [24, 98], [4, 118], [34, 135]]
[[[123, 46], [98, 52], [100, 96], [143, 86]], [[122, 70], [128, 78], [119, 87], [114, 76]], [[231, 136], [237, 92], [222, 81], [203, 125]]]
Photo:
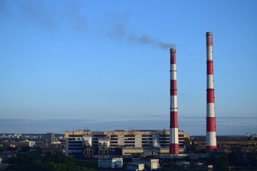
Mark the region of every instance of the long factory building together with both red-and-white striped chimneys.
[[[178, 130], [176, 83], [176, 48], [170, 49], [170, 130], [66, 131], [67, 156], [109, 155], [109, 148], [122, 149], [121, 154], [141, 152], [140, 148], [159, 147], [159, 153], [178, 155], [185, 152], [184, 133]], [[217, 148], [213, 81], [213, 33], [206, 32], [206, 153]], [[84, 147], [84, 150], [82, 150]], [[124, 149], [129, 148], [129, 149]], [[138, 149], [139, 148], [139, 149]], [[165, 149], [167, 148], [167, 149]], [[85, 150], [86, 149], [86, 150]]]

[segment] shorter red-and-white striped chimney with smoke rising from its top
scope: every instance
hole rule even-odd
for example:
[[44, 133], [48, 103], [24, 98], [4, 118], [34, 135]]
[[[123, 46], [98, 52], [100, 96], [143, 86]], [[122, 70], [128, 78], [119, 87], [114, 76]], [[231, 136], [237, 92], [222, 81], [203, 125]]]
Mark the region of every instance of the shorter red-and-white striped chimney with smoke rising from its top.
[[178, 154], [178, 104], [176, 87], [176, 48], [170, 49], [171, 53], [171, 108], [170, 108], [170, 154]]

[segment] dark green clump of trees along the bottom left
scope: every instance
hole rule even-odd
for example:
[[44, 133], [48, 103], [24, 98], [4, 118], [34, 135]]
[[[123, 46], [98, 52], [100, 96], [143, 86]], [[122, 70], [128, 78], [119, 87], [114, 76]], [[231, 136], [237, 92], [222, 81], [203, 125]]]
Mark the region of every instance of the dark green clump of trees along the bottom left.
[[46, 153], [46, 156], [21, 155], [9, 159], [10, 171], [96, 171], [96, 162], [76, 160], [73, 157], [66, 157], [62, 152], [56, 155]]

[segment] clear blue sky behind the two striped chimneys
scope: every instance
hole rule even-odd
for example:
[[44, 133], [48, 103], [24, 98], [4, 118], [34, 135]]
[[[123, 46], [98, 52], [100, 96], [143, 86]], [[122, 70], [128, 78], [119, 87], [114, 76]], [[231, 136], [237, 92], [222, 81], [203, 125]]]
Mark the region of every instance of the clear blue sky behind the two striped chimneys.
[[206, 130], [213, 32], [217, 135], [256, 133], [257, 1], [0, 1], [0, 132]]

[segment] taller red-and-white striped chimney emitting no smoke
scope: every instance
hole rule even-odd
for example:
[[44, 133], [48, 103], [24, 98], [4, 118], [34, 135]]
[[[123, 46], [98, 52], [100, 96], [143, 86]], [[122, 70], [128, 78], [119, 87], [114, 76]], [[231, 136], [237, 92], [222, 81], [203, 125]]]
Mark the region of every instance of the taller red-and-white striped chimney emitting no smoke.
[[213, 33], [206, 32], [207, 46], [207, 113], [206, 113], [206, 152], [210, 152], [216, 146], [216, 118], [214, 107], [214, 83], [213, 83]]

